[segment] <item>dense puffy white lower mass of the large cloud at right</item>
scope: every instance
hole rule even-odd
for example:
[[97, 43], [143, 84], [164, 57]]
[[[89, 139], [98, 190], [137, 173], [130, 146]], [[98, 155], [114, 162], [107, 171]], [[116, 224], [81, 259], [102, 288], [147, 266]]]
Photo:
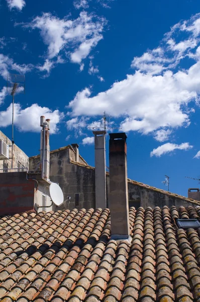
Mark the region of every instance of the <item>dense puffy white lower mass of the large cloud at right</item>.
[[[200, 85], [200, 71], [197, 72]], [[189, 117], [181, 106], [196, 98], [192, 73], [167, 71], [163, 76], [152, 77], [136, 72], [94, 97], [90, 98], [87, 88], [78, 92], [69, 108], [74, 116], [100, 115], [104, 110], [114, 117], [125, 116], [121, 123], [123, 131], [147, 134], [160, 127], [182, 126], [189, 123]]]

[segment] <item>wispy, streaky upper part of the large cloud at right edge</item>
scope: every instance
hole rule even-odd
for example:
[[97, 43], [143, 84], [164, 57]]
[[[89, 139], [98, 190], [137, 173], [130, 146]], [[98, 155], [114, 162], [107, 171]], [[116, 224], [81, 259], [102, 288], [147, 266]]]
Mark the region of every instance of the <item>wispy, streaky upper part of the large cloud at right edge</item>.
[[[200, 14], [196, 14], [189, 20], [175, 24], [171, 31], [165, 34], [158, 48], [135, 57], [131, 66], [151, 74], [160, 74], [163, 70], [173, 69], [183, 58], [194, 58], [191, 51], [195, 50], [200, 42], [199, 33]], [[184, 37], [185, 34], [189, 34], [186, 39], [180, 37], [180, 35]]]

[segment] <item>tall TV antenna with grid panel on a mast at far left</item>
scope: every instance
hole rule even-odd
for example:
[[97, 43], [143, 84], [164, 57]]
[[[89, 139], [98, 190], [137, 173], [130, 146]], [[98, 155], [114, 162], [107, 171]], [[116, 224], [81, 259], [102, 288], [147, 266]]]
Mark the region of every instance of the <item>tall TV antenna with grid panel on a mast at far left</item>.
[[25, 75], [23, 74], [7, 74], [7, 92], [13, 96], [13, 116], [12, 116], [12, 162], [11, 167], [13, 168], [13, 146], [14, 146], [14, 102], [15, 94], [25, 94]]

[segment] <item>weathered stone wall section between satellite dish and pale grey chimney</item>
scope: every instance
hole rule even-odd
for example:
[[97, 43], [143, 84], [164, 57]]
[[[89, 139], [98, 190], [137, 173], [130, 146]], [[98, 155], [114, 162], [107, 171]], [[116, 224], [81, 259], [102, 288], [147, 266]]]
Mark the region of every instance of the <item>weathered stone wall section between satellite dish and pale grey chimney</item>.
[[[58, 183], [64, 194], [63, 205], [54, 206], [53, 210], [95, 207], [94, 169], [88, 168], [80, 156], [79, 159], [82, 163], [76, 164], [75, 153], [71, 147], [63, 147], [50, 153], [50, 180]], [[39, 161], [39, 156], [30, 158], [30, 171], [35, 169]], [[71, 197], [70, 200], [68, 196]]]

